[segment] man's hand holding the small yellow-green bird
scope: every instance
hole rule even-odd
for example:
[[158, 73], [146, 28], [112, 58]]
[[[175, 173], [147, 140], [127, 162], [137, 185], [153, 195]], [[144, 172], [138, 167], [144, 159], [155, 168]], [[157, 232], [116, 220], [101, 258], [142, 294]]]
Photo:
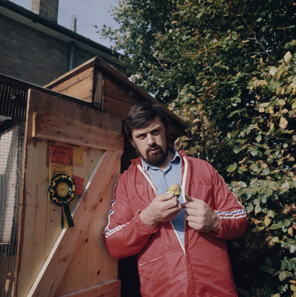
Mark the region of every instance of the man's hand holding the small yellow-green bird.
[[178, 197], [174, 193], [161, 194], [145, 208], [139, 217], [150, 229], [155, 229], [158, 223], [174, 220], [176, 215], [182, 209]]

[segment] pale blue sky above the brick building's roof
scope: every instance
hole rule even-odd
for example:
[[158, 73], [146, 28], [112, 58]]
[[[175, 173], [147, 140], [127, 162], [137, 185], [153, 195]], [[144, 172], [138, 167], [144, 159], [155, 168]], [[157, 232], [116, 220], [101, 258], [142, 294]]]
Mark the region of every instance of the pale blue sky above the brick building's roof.
[[[32, 0], [10, 0], [31, 10]], [[112, 7], [119, 0], [59, 0], [58, 24], [71, 29], [72, 15], [77, 16], [76, 32], [84, 37], [110, 47], [112, 43], [101, 36], [104, 23], [107, 27], [118, 28], [112, 15]], [[97, 25], [97, 29], [94, 27]], [[96, 33], [99, 31], [99, 33]]]

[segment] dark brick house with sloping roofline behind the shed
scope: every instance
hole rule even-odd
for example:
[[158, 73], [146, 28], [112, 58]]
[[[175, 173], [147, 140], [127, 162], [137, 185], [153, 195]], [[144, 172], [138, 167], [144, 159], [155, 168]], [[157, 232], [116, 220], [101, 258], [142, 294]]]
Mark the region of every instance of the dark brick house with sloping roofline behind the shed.
[[0, 0], [0, 73], [43, 86], [94, 56], [125, 73], [117, 53], [57, 20], [58, 0], [32, 0], [32, 11]]

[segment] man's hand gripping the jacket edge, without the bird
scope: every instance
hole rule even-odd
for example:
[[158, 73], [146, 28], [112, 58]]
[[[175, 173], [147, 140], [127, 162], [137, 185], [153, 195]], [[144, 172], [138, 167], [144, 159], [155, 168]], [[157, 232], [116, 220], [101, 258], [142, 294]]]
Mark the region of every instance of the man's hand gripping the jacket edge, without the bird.
[[197, 231], [213, 231], [219, 234], [220, 218], [217, 213], [203, 200], [190, 197], [187, 194], [185, 194], [185, 198], [188, 202], [182, 203], [182, 208], [185, 208], [188, 226]]

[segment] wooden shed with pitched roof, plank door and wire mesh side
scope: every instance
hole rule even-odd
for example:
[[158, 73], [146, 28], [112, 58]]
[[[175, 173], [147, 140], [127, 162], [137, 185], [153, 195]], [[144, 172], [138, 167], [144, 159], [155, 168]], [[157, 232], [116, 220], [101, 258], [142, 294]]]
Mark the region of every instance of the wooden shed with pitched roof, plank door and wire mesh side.
[[[102, 232], [135, 157], [122, 129], [136, 102], [160, 103], [98, 57], [44, 88], [4, 75], [0, 86], [0, 297], [120, 296]], [[167, 113], [173, 145], [184, 126]], [[71, 228], [52, 202], [60, 176], [75, 192]]]

